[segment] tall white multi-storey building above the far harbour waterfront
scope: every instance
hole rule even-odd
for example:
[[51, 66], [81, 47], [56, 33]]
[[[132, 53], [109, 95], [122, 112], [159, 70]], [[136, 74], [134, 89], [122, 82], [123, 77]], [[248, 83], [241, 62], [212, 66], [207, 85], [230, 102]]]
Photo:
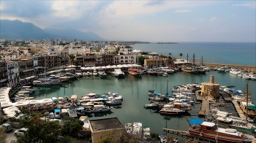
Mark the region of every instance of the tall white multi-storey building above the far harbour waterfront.
[[133, 47], [122, 46], [120, 47], [118, 55], [120, 55], [119, 63], [137, 63], [135, 53], [132, 52]]

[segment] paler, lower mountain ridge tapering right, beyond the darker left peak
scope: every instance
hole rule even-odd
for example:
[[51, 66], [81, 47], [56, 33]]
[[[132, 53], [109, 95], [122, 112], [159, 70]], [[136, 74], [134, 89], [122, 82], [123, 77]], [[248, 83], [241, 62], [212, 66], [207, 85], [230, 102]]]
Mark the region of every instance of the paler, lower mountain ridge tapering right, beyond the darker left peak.
[[67, 29], [45, 28], [44, 30], [48, 34], [60, 35], [61, 38], [68, 37], [69, 39], [83, 39], [86, 41], [108, 41], [106, 39], [102, 39], [102, 37], [100, 37], [97, 34], [94, 34], [91, 31], [83, 32], [83, 31], [78, 31], [76, 29], [72, 29], [72, 28], [67, 28]]

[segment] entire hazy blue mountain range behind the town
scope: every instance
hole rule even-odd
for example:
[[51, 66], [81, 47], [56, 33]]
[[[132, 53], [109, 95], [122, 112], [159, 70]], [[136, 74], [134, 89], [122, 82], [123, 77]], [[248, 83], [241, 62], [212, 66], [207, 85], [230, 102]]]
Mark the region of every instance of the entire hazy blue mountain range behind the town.
[[82, 39], [86, 41], [108, 41], [91, 31], [76, 29], [39, 28], [32, 23], [20, 20], [0, 20], [0, 39]]

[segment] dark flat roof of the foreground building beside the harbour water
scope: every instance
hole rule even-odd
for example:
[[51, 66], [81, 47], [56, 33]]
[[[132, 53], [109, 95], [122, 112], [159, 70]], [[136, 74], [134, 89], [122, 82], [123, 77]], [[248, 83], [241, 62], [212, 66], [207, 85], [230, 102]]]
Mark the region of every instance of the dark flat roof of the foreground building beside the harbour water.
[[91, 128], [93, 131], [104, 131], [115, 128], [124, 128], [124, 125], [121, 124], [120, 120], [117, 117], [98, 119], [98, 120], [89, 120]]

